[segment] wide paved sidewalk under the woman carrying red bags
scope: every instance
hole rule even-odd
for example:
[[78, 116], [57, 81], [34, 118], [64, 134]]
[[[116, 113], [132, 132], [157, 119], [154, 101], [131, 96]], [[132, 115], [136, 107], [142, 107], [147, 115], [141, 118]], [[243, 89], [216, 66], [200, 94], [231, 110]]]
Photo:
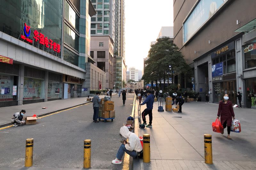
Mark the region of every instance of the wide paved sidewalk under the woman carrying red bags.
[[[137, 103], [138, 106], [139, 103]], [[165, 105], [164, 105], [165, 106]], [[137, 107], [138, 108], [138, 107]], [[141, 107], [141, 112], [146, 108]], [[254, 109], [234, 108], [241, 122], [241, 133], [231, 132], [232, 140], [212, 131], [218, 104], [205, 102], [184, 103], [182, 113], [158, 112], [154, 102], [152, 128], [135, 133], [150, 134], [150, 164], [143, 159], [133, 160], [133, 169], [256, 169], [256, 112]], [[164, 107], [165, 108], [165, 107]], [[136, 109], [137, 110], [137, 109]], [[174, 116], [181, 116], [174, 117]], [[135, 118], [138, 113], [135, 113]], [[148, 123], [148, 116], [146, 116]], [[212, 135], [213, 164], [204, 163], [204, 134]]]

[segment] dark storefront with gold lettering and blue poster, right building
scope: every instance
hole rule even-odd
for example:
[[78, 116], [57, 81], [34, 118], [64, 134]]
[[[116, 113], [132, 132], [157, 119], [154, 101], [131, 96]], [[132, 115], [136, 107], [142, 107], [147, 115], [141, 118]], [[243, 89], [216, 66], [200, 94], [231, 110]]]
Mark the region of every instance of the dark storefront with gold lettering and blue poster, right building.
[[211, 54], [213, 102], [223, 100], [225, 94], [236, 103], [236, 55], [234, 41]]

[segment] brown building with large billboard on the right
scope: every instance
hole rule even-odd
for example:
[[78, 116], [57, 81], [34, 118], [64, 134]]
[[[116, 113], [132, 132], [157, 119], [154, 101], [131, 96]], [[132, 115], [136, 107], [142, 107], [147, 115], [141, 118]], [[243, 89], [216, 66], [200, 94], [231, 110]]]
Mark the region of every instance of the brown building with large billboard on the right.
[[[199, 92], [218, 103], [228, 93], [242, 106], [256, 108], [256, 11], [253, 0], [174, 1], [174, 43], [190, 64], [192, 84], [182, 88]], [[245, 12], [246, 11], [246, 12]]]

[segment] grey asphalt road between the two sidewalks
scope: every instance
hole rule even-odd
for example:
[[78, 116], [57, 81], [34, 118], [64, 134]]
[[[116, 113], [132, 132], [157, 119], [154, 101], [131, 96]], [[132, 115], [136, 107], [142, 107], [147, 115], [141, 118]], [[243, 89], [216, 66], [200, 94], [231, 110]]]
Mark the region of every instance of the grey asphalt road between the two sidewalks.
[[132, 113], [134, 94], [112, 96], [116, 118], [113, 122], [92, 122], [92, 103], [37, 120], [35, 125], [0, 130], [0, 167], [24, 167], [25, 142], [34, 138], [33, 167], [82, 168], [84, 139], [92, 140], [91, 168], [122, 169], [114, 165], [120, 146], [119, 129]]

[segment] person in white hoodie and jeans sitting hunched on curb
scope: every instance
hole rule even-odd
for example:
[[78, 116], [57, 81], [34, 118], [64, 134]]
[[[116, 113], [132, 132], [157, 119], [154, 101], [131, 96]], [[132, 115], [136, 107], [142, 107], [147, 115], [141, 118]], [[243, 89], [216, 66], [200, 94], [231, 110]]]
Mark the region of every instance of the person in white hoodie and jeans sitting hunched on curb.
[[112, 160], [112, 164], [122, 164], [124, 152], [133, 158], [137, 158], [138, 153], [142, 151], [140, 138], [135, 133], [130, 132], [126, 126], [120, 128], [120, 134], [126, 139], [128, 138], [128, 142], [124, 140], [124, 143], [121, 144], [116, 159]]

